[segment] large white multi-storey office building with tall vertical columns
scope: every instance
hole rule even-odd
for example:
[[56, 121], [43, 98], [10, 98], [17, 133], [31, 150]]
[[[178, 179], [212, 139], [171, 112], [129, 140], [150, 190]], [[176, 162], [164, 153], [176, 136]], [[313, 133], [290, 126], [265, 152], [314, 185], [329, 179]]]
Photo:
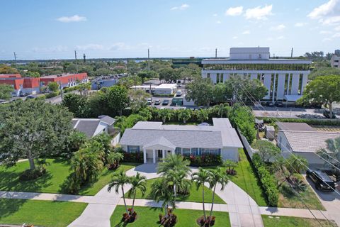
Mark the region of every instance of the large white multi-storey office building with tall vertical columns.
[[229, 58], [202, 60], [202, 77], [214, 84], [232, 77], [259, 79], [268, 89], [268, 101], [296, 101], [310, 74], [310, 60], [273, 59], [269, 48], [230, 48]]

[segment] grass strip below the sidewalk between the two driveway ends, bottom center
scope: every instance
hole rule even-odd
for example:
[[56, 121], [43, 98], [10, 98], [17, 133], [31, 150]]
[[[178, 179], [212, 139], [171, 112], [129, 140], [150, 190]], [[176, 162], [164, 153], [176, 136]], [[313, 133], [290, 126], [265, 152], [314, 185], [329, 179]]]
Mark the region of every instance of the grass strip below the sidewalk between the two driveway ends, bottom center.
[[[159, 224], [159, 214], [163, 214], [164, 211], [158, 208], [145, 207], [145, 206], [135, 206], [135, 211], [137, 212], [137, 220], [133, 223], [128, 223], [127, 226], [161, 226]], [[115, 211], [111, 216], [111, 226], [120, 227], [125, 226], [121, 222], [122, 214], [125, 213], [124, 206], [117, 206]], [[188, 210], [188, 209], [176, 209], [174, 214], [177, 216], [176, 227], [197, 227], [196, 219], [203, 216], [203, 211]], [[229, 227], [229, 214], [227, 212], [217, 212], [212, 213], [216, 217], [216, 222], [214, 227]]]

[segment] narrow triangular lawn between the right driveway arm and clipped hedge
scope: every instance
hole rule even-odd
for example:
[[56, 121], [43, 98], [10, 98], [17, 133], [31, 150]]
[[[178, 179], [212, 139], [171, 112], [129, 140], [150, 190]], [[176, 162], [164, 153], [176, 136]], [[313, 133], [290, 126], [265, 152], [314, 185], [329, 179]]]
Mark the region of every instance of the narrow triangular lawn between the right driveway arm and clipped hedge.
[[[229, 179], [249, 194], [259, 206], [266, 206], [266, 199], [264, 199], [259, 179], [256, 177], [243, 149], [239, 149], [239, 158], [239, 165], [235, 168], [237, 175], [229, 176]], [[206, 169], [211, 168], [207, 167]], [[226, 170], [225, 167], [223, 169]]]

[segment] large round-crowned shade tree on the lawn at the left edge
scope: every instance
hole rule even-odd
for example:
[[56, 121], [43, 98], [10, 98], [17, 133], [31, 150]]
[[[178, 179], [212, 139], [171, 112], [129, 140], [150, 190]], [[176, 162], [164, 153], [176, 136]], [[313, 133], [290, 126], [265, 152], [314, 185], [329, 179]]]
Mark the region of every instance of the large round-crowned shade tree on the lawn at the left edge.
[[72, 133], [72, 114], [42, 100], [15, 101], [0, 107], [0, 162], [15, 165], [28, 158], [30, 169], [42, 155], [57, 155]]

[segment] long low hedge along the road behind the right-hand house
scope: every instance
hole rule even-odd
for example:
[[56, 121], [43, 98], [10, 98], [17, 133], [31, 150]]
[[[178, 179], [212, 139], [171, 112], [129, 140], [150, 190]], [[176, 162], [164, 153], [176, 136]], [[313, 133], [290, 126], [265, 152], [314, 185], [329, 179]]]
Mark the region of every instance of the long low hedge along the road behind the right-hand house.
[[340, 126], [339, 119], [318, 119], [318, 118], [267, 118], [259, 117], [263, 119], [264, 123], [280, 122], [295, 122], [295, 123], [307, 123], [314, 126]]

